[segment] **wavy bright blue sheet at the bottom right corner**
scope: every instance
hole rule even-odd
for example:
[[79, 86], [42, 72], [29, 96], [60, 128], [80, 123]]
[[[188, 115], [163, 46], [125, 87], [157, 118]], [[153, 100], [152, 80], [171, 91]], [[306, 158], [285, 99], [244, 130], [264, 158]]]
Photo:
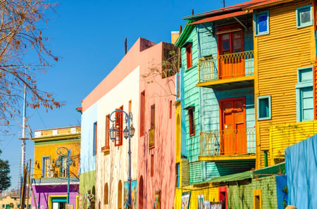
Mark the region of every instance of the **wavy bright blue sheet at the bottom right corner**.
[[288, 204], [317, 208], [317, 134], [285, 149]]

